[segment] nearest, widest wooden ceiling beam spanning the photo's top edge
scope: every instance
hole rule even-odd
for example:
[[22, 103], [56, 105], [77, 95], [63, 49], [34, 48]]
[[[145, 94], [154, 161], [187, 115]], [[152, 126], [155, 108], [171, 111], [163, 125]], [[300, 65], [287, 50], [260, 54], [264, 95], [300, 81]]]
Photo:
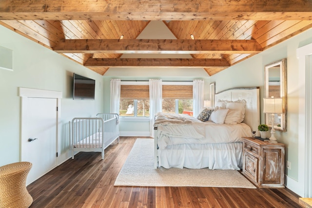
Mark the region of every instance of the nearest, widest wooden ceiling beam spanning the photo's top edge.
[[311, 0], [1, 0], [0, 19], [311, 20]]

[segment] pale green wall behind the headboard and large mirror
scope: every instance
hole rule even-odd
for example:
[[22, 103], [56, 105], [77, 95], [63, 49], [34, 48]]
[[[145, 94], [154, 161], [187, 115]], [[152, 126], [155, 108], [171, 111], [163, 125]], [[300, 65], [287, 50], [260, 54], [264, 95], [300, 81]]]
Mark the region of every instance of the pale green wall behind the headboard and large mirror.
[[296, 49], [312, 43], [312, 29], [286, 40], [271, 49], [255, 55], [241, 63], [234, 65], [214, 76], [216, 92], [227, 88], [241, 86], [260, 87], [261, 123], [264, 123], [263, 95], [264, 95], [264, 67], [274, 61], [287, 58], [287, 132], [276, 132], [278, 141], [286, 144], [286, 160], [291, 162], [291, 170], [286, 169], [286, 175], [298, 180], [298, 60]]

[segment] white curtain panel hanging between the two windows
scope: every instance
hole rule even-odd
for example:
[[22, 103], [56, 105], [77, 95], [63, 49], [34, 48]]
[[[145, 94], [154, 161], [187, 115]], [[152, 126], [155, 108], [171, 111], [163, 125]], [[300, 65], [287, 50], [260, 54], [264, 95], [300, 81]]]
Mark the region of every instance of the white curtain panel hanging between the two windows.
[[154, 138], [154, 115], [161, 112], [162, 80], [150, 79], [150, 135]]

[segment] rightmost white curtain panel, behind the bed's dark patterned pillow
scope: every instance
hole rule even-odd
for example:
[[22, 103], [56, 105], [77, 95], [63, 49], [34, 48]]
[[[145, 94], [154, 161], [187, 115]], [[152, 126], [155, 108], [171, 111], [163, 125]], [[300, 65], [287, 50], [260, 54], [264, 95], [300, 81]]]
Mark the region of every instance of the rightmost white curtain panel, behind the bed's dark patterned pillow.
[[204, 107], [204, 80], [193, 80], [193, 116], [197, 117]]

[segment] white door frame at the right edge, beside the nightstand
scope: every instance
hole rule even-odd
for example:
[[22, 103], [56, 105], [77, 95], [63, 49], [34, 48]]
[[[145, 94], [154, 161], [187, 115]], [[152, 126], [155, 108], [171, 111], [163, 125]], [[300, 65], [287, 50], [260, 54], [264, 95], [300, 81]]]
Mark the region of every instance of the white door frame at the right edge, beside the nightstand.
[[[298, 183], [302, 197], [312, 197], [312, 43], [297, 49], [299, 60]], [[304, 77], [304, 79], [302, 79]], [[300, 163], [304, 164], [300, 166]], [[304, 187], [300, 189], [299, 187]]]

